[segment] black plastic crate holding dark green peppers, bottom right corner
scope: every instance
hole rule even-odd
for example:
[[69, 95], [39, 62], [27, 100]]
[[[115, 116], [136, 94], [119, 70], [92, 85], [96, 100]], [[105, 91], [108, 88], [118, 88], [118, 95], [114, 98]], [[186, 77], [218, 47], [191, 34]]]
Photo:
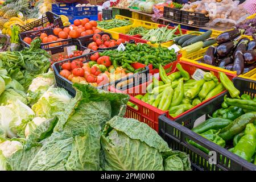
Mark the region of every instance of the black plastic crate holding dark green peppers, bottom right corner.
[[[240, 77], [234, 78], [233, 81], [234, 85], [240, 90], [241, 94], [246, 93], [250, 94], [252, 97], [256, 96], [256, 81]], [[209, 115], [212, 115], [215, 110], [221, 108], [225, 94], [228, 94], [228, 92], [213, 98], [207, 102], [207, 104], [197, 107], [197, 109], [175, 119], [175, 121], [171, 121], [171, 119], [161, 115], [159, 117], [159, 135], [166, 140], [166, 142], [174, 150], [187, 152], [187, 154], [189, 154], [191, 157], [193, 169], [198, 169], [201, 171], [255, 171], [256, 166], [253, 163], [247, 162], [246, 160], [240, 158], [240, 156], [228, 151], [226, 148], [222, 148], [210, 140], [205, 139], [199, 134], [191, 131], [196, 119], [200, 117], [205, 117], [205, 119], [208, 119]], [[209, 151], [216, 152], [216, 164], [210, 165], [208, 160], [211, 156], [199, 150], [199, 148], [188, 144], [186, 142], [186, 138], [193, 140], [205, 148], [208, 148]]]

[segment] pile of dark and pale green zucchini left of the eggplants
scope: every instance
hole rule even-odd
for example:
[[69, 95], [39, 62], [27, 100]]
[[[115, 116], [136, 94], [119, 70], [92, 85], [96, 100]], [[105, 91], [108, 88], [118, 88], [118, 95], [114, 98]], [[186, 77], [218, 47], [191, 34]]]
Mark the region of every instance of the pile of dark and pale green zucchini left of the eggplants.
[[[200, 34], [200, 35], [195, 35]], [[174, 43], [181, 47], [181, 51], [186, 51], [187, 54], [197, 52], [201, 48], [209, 47], [216, 43], [215, 38], [210, 38], [212, 31], [208, 30], [202, 32], [189, 32], [188, 34], [174, 38]], [[210, 38], [210, 39], [209, 39]]]

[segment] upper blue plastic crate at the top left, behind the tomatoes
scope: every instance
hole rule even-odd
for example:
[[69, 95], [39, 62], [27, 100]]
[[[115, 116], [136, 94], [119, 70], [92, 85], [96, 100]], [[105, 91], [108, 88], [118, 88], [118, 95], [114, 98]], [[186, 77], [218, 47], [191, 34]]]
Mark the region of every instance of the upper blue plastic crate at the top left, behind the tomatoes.
[[98, 7], [75, 7], [77, 3], [57, 3], [52, 5], [52, 12], [58, 15], [85, 16], [97, 15]]

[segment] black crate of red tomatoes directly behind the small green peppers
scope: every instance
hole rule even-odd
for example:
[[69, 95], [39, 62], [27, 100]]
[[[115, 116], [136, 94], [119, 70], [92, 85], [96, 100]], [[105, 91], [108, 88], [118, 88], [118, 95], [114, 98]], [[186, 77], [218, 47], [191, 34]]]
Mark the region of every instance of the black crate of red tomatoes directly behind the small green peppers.
[[[112, 35], [107, 33], [107, 32], [100, 32], [98, 33], [100, 35], [109, 35], [110, 39], [113, 39], [112, 38]], [[86, 36], [82, 36], [81, 38], [78, 38], [77, 40], [80, 41], [81, 45], [84, 46], [84, 47], [88, 47], [88, 45], [93, 42], [93, 34], [92, 35], [86, 35]], [[134, 40], [129, 40], [129, 43], [135, 43]], [[124, 43], [123, 45], [125, 46], [127, 43]], [[102, 51], [105, 51], [105, 50], [114, 50], [114, 49], [117, 49], [118, 46], [114, 46], [114, 47], [108, 47], [108, 48], [98, 48], [98, 51], [102, 50]]]

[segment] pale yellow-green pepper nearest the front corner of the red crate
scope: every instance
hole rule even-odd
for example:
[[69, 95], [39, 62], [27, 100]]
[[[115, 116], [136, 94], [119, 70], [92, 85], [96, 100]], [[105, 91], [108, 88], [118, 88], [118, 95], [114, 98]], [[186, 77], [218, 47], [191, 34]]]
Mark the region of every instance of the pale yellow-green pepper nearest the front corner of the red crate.
[[163, 111], [168, 110], [171, 105], [173, 94], [174, 94], [174, 89], [172, 89], [171, 87], [167, 87], [166, 89], [164, 89], [163, 96], [160, 100], [158, 109], [161, 109]]

